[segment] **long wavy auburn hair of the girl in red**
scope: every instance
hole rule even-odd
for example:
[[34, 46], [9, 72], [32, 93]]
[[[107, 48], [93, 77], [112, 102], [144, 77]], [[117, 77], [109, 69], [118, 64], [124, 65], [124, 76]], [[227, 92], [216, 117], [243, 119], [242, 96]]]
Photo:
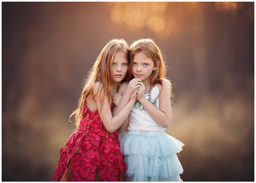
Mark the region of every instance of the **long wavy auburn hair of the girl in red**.
[[[100, 102], [103, 103], [105, 97], [108, 97], [109, 106], [112, 102], [111, 90], [113, 89], [114, 79], [112, 77], [112, 64], [114, 60], [114, 56], [117, 52], [122, 51], [127, 61], [129, 62], [129, 46], [124, 39], [112, 39], [108, 41], [106, 46], [101, 50], [100, 55], [97, 57], [94, 62], [93, 67], [90, 69], [87, 78], [83, 81], [83, 91], [81, 93], [81, 97], [78, 100], [77, 109], [69, 116], [69, 121], [71, 116], [75, 114], [75, 124], [78, 127], [78, 121], [83, 114], [84, 104], [88, 96], [92, 95], [92, 98], [97, 95], [98, 92], [101, 92]], [[123, 81], [128, 81], [128, 76], [124, 77]], [[99, 82], [101, 86], [97, 93], [93, 95], [93, 87]], [[99, 113], [101, 111], [98, 109]]]

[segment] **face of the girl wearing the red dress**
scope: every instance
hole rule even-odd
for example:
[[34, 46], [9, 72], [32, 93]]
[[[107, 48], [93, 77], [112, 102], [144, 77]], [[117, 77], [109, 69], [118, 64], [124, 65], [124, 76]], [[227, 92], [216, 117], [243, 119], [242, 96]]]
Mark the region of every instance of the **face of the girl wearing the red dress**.
[[112, 73], [115, 82], [121, 82], [128, 71], [128, 61], [121, 50], [116, 53], [112, 63]]

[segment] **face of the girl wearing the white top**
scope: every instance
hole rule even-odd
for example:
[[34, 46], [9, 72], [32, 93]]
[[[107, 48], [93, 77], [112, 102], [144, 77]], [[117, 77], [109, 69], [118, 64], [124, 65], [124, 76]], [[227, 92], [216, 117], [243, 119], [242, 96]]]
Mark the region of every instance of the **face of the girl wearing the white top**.
[[144, 81], [149, 78], [153, 70], [158, 66], [154, 65], [153, 60], [142, 51], [136, 53], [133, 58], [132, 75]]

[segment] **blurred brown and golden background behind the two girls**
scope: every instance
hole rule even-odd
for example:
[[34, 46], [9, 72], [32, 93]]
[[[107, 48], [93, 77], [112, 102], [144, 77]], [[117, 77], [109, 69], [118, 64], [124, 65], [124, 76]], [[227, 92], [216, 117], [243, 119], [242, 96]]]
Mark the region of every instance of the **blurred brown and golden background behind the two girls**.
[[254, 2], [2, 2], [2, 180], [53, 181], [101, 49], [152, 38], [183, 181], [254, 181], [254, 18]]

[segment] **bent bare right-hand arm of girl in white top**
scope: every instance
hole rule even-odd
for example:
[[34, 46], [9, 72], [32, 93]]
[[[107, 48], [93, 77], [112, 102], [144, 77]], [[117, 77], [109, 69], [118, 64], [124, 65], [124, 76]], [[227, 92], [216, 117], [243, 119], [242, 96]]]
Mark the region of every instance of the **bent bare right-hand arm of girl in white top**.
[[[142, 83], [142, 82], [141, 82]], [[161, 86], [161, 85], [160, 85]], [[137, 100], [140, 101], [141, 105], [146, 109], [148, 114], [163, 128], [167, 128], [170, 125], [172, 117], [172, 106], [170, 99], [170, 89], [168, 82], [163, 79], [162, 87], [160, 87], [162, 93], [159, 96], [159, 109], [152, 105], [148, 99], [145, 98], [145, 86], [142, 83], [137, 91]], [[159, 91], [160, 91], [159, 90]]]

